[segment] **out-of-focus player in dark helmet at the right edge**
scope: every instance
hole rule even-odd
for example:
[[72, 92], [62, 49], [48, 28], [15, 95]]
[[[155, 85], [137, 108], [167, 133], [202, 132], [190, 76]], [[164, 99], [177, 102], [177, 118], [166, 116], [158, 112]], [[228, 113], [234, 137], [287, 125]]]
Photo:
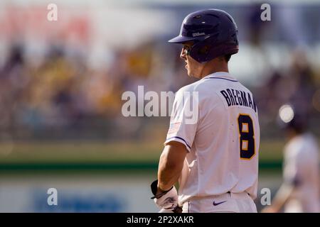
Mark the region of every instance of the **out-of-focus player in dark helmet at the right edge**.
[[284, 147], [284, 182], [262, 212], [318, 213], [319, 210], [319, 148], [307, 131], [306, 114], [291, 105], [279, 109], [279, 120], [289, 142]]

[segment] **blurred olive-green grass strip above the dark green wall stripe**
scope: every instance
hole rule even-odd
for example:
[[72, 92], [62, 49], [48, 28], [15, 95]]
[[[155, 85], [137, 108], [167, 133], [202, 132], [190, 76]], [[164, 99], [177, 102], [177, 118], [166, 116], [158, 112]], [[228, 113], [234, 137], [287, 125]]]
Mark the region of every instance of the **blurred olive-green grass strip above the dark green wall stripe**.
[[[262, 141], [260, 160], [282, 159], [281, 141]], [[0, 143], [0, 163], [12, 162], [157, 162], [163, 145], [157, 143], [19, 142]]]

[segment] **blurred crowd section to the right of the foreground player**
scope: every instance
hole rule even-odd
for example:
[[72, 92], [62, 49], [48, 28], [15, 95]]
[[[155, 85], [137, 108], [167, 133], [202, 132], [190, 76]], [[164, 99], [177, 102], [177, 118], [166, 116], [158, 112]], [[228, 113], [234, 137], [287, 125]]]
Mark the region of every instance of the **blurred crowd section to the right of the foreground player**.
[[301, 49], [292, 50], [289, 61], [288, 68], [271, 70], [264, 84], [255, 88], [262, 133], [281, 135], [277, 125], [279, 108], [290, 104], [309, 118], [311, 131], [319, 135], [319, 68], [311, 67], [306, 52]]

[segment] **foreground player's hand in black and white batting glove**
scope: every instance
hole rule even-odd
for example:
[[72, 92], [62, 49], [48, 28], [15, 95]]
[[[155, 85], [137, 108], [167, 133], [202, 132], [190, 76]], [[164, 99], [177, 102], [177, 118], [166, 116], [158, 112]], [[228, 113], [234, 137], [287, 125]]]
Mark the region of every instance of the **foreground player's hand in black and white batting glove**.
[[178, 192], [176, 192], [176, 187], [173, 186], [168, 191], [159, 194], [158, 180], [156, 179], [151, 184], [151, 192], [154, 194], [151, 199], [154, 199], [154, 203], [159, 209], [176, 211], [178, 207]]

